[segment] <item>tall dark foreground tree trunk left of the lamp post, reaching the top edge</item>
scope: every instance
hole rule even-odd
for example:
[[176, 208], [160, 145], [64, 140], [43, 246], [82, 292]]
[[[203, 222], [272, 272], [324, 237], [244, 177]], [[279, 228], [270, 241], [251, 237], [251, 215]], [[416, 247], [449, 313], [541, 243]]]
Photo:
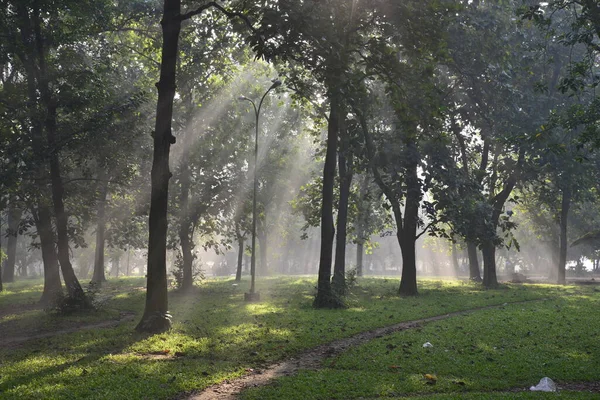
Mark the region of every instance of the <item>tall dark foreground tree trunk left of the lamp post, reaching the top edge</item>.
[[161, 21], [163, 44], [160, 80], [154, 130], [150, 216], [148, 238], [148, 271], [144, 315], [136, 326], [140, 332], [162, 332], [171, 327], [167, 298], [167, 207], [169, 200], [169, 152], [175, 138], [171, 133], [175, 74], [181, 31], [181, 0], [164, 0]]

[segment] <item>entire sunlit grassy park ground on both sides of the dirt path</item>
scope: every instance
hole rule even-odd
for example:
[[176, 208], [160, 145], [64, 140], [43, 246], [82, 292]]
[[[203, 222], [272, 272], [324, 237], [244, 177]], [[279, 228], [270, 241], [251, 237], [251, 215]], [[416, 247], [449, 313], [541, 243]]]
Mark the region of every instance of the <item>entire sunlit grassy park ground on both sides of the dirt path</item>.
[[[312, 278], [260, 279], [257, 304], [243, 301], [246, 282], [232, 284], [213, 280], [192, 295], [171, 293], [174, 328], [154, 336], [133, 331], [143, 311], [139, 278], [109, 282], [99, 293], [102, 311], [69, 317], [31, 307], [41, 292], [39, 282], [7, 284], [0, 293], [0, 338], [116, 320], [123, 312], [136, 317], [116, 327], [0, 344], [0, 398], [169, 398], [361, 331], [542, 298], [548, 300], [481, 310], [376, 339], [329, 360], [319, 373], [302, 372], [246, 396], [341, 399], [443, 392], [447, 397], [434, 398], [462, 398], [463, 391], [528, 386], [546, 375], [600, 379], [598, 349], [592, 345], [598, 340], [594, 317], [600, 296], [593, 287], [484, 291], [470, 283], [423, 281], [418, 298], [400, 298], [396, 279], [369, 278], [353, 289], [349, 309], [313, 310]], [[422, 348], [425, 341], [434, 347]], [[425, 373], [435, 373], [437, 383], [426, 385]]]

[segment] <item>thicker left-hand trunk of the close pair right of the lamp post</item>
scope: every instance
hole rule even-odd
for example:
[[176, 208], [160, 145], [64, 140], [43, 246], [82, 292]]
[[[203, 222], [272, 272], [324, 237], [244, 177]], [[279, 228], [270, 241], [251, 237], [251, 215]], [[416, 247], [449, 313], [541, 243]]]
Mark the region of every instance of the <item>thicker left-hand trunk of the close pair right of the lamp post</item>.
[[331, 261], [335, 227], [333, 225], [333, 186], [335, 183], [335, 161], [339, 130], [340, 105], [338, 95], [330, 96], [329, 124], [327, 126], [327, 152], [323, 166], [323, 194], [321, 203], [321, 251], [319, 255], [319, 278], [315, 308], [339, 308], [341, 302], [331, 289]]

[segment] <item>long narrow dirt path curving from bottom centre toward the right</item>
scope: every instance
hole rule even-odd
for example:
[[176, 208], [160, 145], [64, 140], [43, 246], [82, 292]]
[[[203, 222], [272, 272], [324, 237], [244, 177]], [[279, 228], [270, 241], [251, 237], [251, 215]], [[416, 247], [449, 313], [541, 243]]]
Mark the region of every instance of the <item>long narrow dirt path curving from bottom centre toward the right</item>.
[[349, 347], [359, 346], [375, 338], [390, 335], [394, 332], [412, 329], [428, 322], [440, 321], [458, 315], [466, 315], [474, 313], [476, 311], [486, 310], [490, 308], [499, 308], [503, 307], [506, 304], [522, 304], [542, 300], [546, 299], [527, 300], [472, 308], [469, 310], [456, 311], [449, 314], [437, 315], [429, 318], [400, 322], [398, 324], [386, 326], [383, 328], [378, 328], [367, 332], [361, 332], [349, 338], [336, 340], [334, 342], [324, 344], [313, 349], [309, 349], [298, 355], [297, 358], [291, 358], [289, 360], [284, 360], [275, 363], [273, 365], [268, 366], [265, 369], [249, 370], [247, 375], [244, 375], [237, 379], [225, 380], [224, 382], [221, 382], [219, 384], [209, 386], [201, 392], [182, 394], [181, 396], [177, 397], [177, 399], [233, 400], [240, 392], [242, 392], [245, 389], [257, 386], [265, 386], [271, 383], [276, 378], [287, 375], [293, 375], [301, 369], [319, 369], [321, 367], [321, 362], [325, 358], [336, 356], [344, 352]]

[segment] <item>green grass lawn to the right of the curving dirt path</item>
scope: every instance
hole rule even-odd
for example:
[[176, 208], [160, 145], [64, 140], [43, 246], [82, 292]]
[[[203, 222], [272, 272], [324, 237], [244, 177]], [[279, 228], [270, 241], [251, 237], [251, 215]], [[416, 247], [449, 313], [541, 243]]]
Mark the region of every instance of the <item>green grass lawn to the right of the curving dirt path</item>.
[[[244, 399], [547, 398], [556, 394], [501, 392], [529, 388], [544, 376], [559, 383], [600, 380], [600, 293], [570, 287], [556, 296], [556, 289], [548, 289], [548, 300], [480, 310], [375, 339], [326, 360], [323, 370], [282, 378]], [[427, 341], [432, 348], [423, 348]], [[424, 374], [435, 374], [436, 384]], [[560, 396], [598, 398], [566, 391]]]

